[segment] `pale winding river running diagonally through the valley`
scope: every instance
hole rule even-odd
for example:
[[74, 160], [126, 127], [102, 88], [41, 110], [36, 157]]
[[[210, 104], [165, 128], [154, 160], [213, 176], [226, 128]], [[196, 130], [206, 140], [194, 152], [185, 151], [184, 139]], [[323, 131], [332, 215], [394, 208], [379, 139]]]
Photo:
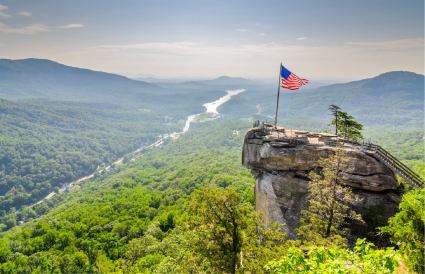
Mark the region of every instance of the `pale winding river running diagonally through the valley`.
[[[169, 134], [160, 135], [160, 136], [158, 136], [157, 140], [154, 143], [152, 143], [150, 145], [141, 146], [138, 149], [126, 154], [125, 156], [123, 156], [121, 158], [119, 158], [118, 160], [116, 160], [112, 164], [109, 164], [109, 165], [106, 165], [106, 166], [103, 166], [103, 167], [99, 166], [96, 169], [96, 171], [94, 171], [90, 175], [81, 177], [78, 180], [75, 180], [73, 182], [66, 183], [65, 185], [63, 185], [59, 189], [58, 193], [67, 192], [77, 183], [81, 183], [83, 181], [89, 180], [89, 179], [93, 178], [94, 176], [96, 176], [97, 174], [108, 172], [113, 166], [123, 163], [124, 158], [130, 158], [130, 160], [134, 160], [134, 159], [136, 159], [137, 157], [140, 156], [140, 152], [146, 151], [146, 150], [154, 148], [154, 147], [159, 147], [162, 144], [164, 144], [165, 141], [167, 141], [168, 139], [177, 139], [178, 137], [180, 137], [180, 135], [185, 134], [189, 130], [190, 126], [193, 123], [199, 123], [199, 122], [204, 122], [204, 121], [219, 118], [220, 113], [218, 112], [218, 108], [220, 106], [222, 106], [223, 104], [225, 104], [226, 102], [228, 102], [230, 99], [232, 99], [233, 96], [236, 96], [236, 95], [238, 95], [238, 94], [240, 94], [244, 91], [245, 91], [245, 89], [226, 90], [226, 95], [218, 98], [215, 101], [203, 104], [202, 106], [205, 108], [204, 112], [187, 116], [184, 127], [180, 132], [173, 132], [173, 133], [169, 133]], [[40, 201], [34, 203], [32, 206], [38, 205], [38, 204], [42, 203], [43, 201], [54, 197], [56, 194], [57, 194], [57, 192], [50, 192], [46, 197], [44, 197]]]

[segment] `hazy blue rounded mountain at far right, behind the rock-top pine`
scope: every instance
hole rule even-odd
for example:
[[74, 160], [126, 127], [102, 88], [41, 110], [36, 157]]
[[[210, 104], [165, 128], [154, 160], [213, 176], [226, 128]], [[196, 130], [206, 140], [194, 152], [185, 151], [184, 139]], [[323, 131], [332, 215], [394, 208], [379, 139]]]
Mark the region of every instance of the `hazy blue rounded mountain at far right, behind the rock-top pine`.
[[424, 76], [406, 71], [387, 72], [370, 79], [320, 87], [306, 94], [305, 99], [312, 108], [333, 102], [376, 123], [390, 119], [404, 123], [402, 120], [407, 117], [423, 120]]

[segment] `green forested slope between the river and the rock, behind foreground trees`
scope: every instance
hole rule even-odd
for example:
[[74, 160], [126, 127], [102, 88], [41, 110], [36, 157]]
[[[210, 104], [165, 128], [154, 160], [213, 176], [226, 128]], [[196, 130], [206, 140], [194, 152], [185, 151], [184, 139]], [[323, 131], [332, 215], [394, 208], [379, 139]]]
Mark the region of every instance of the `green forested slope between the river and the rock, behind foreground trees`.
[[[102, 269], [129, 264], [129, 250], [140, 237], [153, 230], [160, 240], [181, 224], [182, 202], [195, 189], [232, 187], [252, 205], [254, 181], [240, 165], [243, 135], [233, 134], [234, 129], [244, 132], [248, 125], [241, 121], [225, 127], [202, 125], [115, 175], [74, 187], [49, 214], [3, 236], [10, 246], [20, 246], [12, 248], [20, 255], [13, 255], [16, 260], [0, 269], [91, 272], [99, 264]], [[199, 136], [208, 138], [198, 141]], [[154, 261], [165, 258], [155, 256]], [[33, 260], [47, 264], [27, 264]], [[63, 268], [64, 260], [74, 268]]]

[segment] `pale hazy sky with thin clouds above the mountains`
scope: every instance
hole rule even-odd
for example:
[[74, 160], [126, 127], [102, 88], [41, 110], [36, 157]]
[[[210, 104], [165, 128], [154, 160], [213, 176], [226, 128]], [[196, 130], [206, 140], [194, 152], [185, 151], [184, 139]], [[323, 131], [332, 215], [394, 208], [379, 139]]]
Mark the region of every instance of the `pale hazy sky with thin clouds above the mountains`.
[[424, 73], [423, 0], [0, 0], [0, 57], [156, 77]]

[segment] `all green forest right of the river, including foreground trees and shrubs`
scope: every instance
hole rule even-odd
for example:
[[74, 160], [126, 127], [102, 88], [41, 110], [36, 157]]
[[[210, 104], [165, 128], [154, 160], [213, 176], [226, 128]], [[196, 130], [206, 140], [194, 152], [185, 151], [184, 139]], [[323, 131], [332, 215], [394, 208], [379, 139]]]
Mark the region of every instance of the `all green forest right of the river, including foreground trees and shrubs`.
[[[0, 272], [423, 271], [423, 190], [404, 195], [400, 212], [382, 228], [393, 247], [377, 249], [363, 239], [351, 248], [344, 241], [288, 240], [279, 225], [264, 225], [254, 210], [254, 178], [240, 159], [251, 123], [195, 124], [117, 173], [58, 195], [47, 214], [34, 220], [28, 214], [25, 225], [3, 232]], [[410, 140], [409, 134], [417, 136], [402, 136]], [[381, 140], [390, 151], [399, 148], [390, 137]], [[409, 150], [420, 151], [422, 143], [412, 142]], [[403, 158], [401, 151], [393, 153]], [[408, 155], [407, 163], [420, 160]]]

